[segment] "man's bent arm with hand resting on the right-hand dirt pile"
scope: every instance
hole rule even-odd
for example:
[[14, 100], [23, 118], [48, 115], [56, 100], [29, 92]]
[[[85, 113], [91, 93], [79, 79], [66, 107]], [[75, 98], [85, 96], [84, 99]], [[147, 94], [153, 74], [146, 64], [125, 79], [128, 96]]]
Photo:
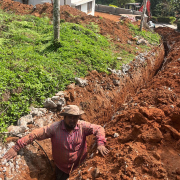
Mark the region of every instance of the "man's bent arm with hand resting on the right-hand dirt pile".
[[97, 150], [102, 154], [102, 156], [105, 156], [109, 152], [109, 150], [105, 147], [106, 138], [104, 128], [100, 125], [91, 124], [86, 121], [80, 122], [86, 136], [91, 134], [94, 134], [96, 136]]

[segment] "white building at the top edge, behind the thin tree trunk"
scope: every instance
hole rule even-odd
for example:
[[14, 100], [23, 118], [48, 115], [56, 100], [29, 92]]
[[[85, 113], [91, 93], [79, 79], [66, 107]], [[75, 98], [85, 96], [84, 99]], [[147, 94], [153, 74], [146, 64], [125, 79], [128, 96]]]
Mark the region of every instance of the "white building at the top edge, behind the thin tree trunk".
[[[23, 4], [36, 4], [51, 3], [51, 0], [14, 0]], [[88, 15], [94, 15], [95, 11], [95, 0], [60, 0], [60, 5], [69, 5]]]

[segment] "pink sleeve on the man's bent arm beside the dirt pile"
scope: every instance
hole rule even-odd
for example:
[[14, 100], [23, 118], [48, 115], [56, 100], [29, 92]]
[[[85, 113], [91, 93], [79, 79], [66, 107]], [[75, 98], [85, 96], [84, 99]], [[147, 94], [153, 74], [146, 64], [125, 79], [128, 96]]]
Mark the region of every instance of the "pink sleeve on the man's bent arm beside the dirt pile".
[[80, 121], [80, 123], [81, 123], [85, 136], [88, 136], [91, 134], [95, 135], [98, 146], [104, 145], [106, 143], [105, 130], [102, 126], [91, 124], [86, 121]]

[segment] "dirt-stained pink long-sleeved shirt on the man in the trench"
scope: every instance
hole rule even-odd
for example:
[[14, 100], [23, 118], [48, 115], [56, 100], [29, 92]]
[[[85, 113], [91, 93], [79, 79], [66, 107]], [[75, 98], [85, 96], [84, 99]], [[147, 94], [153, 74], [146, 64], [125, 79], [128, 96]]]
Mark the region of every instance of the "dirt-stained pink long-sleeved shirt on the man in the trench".
[[102, 126], [79, 120], [74, 130], [69, 133], [62, 120], [33, 130], [29, 135], [19, 139], [14, 149], [18, 151], [35, 139], [51, 138], [54, 162], [60, 170], [69, 174], [72, 167], [74, 170], [85, 159], [86, 136], [91, 134], [96, 136], [98, 146], [104, 145], [106, 139]]

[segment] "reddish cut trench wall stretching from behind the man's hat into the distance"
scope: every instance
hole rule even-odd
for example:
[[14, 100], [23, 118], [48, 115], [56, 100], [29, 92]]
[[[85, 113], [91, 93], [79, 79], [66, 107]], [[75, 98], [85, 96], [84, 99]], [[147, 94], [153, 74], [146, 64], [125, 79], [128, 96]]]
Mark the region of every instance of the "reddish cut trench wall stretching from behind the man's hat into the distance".
[[[164, 46], [140, 54], [130, 63], [130, 69], [121, 75], [106, 75], [92, 71], [87, 77], [88, 86], [69, 85], [67, 104], [77, 104], [85, 111], [83, 119], [103, 125], [117, 108], [146, 85], [164, 60]], [[118, 74], [116, 71], [115, 73]]]

